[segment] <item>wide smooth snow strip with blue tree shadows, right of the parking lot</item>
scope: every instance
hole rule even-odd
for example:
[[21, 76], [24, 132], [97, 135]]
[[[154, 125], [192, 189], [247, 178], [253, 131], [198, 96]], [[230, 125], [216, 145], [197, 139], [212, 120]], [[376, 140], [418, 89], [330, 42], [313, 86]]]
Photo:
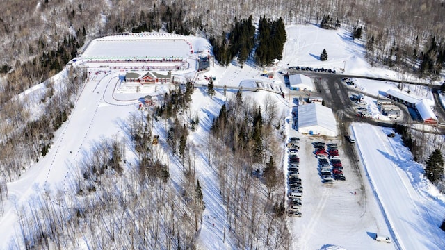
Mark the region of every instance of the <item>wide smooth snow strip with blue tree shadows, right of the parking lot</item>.
[[[354, 124], [353, 133], [371, 188], [398, 249], [441, 249], [444, 199], [422, 175], [422, 167], [392, 129]], [[433, 192], [430, 192], [433, 191]], [[430, 192], [428, 194], [428, 192]], [[380, 233], [380, 232], [375, 232]]]

